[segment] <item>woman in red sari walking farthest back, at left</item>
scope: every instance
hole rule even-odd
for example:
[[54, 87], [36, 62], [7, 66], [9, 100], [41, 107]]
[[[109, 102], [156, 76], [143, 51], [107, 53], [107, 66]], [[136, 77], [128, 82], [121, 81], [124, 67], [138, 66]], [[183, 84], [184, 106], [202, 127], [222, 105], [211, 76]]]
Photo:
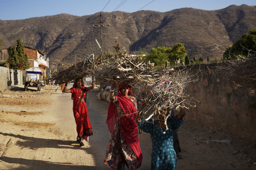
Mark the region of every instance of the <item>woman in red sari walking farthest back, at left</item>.
[[93, 135], [93, 129], [91, 128], [91, 123], [85, 103], [86, 92], [92, 90], [95, 86], [94, 77], [92, 79], [93, 82], [91, 87], [83, 86], [83, 79], [77, 78], [72, 88], [67, 90], [65, 86], [64, 90], [65, 93], [72, 92], [73, 95], [73, 113], [75, 124], [77, 124], [77, 142], [80, 144], [80, 146], [84, 145], [83, 139], [88, 142], [89, 136]]

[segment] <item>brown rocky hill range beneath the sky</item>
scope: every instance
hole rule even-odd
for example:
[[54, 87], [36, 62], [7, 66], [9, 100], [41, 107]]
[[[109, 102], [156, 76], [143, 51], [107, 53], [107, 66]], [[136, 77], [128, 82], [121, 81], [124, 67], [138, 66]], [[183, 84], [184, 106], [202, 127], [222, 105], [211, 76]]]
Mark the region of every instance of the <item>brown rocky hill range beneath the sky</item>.
[[[92, 53], [100, 55], [95, 41], [100, 42], [100, 27], [93, 27], [99, 24], [99, 14], [0, 20], [2, 49], [16, 44], [21, 37], [24, 45], [44, 52], [51, 67], [60, 62], [77, 62]], [[226, 48], [256, 28], [256, 6], [247, 5], [213, 11], [180, 8], [168, 12], [102, 12], [102, 17], [103, 24], [110, 25], [103, 27], [103, 52], [112, 50], [116, 40], [127, 52], [142, 48], [148, 53], [151, 48], [173, 47], [181, 42], [190, 58], [222, 58]]]

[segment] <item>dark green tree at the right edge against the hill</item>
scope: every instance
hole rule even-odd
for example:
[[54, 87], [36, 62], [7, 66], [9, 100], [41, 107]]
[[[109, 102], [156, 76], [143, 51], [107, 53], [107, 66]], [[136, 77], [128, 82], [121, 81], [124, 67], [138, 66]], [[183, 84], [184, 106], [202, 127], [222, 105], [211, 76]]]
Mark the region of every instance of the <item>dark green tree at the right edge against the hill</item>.
[[256, 51], [256, 28], [251, 29], [250, 35], [244, 33], [230, 48], [226, 49], [223, 59], [237, 59], [238, 55], [250, 57]]

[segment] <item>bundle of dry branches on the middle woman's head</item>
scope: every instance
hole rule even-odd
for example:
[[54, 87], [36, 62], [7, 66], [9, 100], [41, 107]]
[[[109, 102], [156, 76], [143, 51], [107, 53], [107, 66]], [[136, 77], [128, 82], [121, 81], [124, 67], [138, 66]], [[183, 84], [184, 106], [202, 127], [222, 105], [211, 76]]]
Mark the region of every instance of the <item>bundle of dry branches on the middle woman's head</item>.
[[148, 73], [153, 68], [152, 63], [146, 63], [141, 57], [131, 57], [121, 52], [117, 41], [114, 48], [116, 55], [106, 53], [106, 62], [102, 66], [95, 67], [97, 82], [110, 84], [112, 78], [115, 78], [116, 83], [134, 84], [141, 78], [149, 76]]

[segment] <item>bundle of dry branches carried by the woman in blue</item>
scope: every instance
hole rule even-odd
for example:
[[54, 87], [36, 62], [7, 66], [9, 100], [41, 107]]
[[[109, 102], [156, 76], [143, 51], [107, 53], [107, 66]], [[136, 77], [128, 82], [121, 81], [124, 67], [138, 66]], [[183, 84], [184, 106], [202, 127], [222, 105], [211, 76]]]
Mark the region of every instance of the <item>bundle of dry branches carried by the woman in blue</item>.
[[[163, 73], [163, 74], [161, 74]], [[194, 76], [188, 70], [163, 69], [158, 77], [152, 79], [148, 87], [140, 88], [144, 94], [144, 107], [140, 111], [145, 120], [157, 120], [158, 113], [163, 108], [177, 109], [195, 107], [195, 99], [186, 93], [188, 83], [194, 81]], [[181, 103], [184, 105], [182, 106]], [[194, 104], [194, 105], [192, 105]], [[171, 113], [165, 115], [165, 124]]]

